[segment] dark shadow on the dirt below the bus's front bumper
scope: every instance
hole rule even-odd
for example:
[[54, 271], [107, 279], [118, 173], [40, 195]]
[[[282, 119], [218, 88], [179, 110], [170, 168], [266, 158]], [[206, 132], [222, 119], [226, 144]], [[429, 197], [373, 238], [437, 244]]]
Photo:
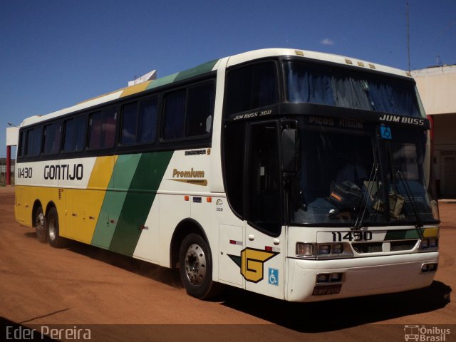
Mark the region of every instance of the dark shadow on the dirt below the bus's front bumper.
[[233, 288], [224, 294], [222, 305], [295, 331], [319, 333], [442, 309], [450, 303], [451, 291], [433, 281], [425, 289], [398, 294], [290, 303]]

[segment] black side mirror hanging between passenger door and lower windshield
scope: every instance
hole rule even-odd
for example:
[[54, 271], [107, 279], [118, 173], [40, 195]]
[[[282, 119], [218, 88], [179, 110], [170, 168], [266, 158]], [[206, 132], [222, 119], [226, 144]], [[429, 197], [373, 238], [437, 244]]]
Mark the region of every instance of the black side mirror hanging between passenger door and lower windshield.
[[294, 176], [299, 173], [300, 145], [298, 130], [284, 128], [281, 133], [281, 167], [284, 176]]

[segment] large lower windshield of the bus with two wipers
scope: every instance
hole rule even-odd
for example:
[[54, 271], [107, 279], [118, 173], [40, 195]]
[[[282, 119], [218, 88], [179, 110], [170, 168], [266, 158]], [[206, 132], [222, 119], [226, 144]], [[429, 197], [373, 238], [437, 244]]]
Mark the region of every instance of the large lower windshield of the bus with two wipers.
[[[328, 125], [336, 119], [326, 120]], [[312, 125], [300, 118], [301, 172], [293, 191], [293, 224], [421, 224], [438, 219], [425, 172], [427, 135], [391, 127], [391, 140], [375, 125], [356, 130]], [[350, 120], [352, 121], [352, 120]]]

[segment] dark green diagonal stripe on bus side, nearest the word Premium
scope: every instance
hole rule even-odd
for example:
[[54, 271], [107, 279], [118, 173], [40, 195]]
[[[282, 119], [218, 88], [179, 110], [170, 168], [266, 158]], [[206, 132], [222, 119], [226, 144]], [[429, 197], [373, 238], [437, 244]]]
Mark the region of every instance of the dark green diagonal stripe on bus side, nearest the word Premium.
[[172, 151], [142, 154], [130, 184], [109, 249], [132, 256]]

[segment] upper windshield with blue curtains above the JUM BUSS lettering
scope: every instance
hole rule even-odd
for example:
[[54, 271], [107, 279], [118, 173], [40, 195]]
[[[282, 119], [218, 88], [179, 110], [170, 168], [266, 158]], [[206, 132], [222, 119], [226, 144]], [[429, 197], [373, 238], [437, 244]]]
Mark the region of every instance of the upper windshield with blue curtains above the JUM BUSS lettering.
[[303, 62], [284, 63], [286, 100], [423, 118], [415, 85], [372, 73]]

